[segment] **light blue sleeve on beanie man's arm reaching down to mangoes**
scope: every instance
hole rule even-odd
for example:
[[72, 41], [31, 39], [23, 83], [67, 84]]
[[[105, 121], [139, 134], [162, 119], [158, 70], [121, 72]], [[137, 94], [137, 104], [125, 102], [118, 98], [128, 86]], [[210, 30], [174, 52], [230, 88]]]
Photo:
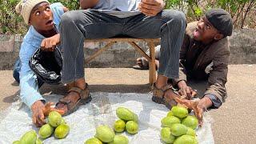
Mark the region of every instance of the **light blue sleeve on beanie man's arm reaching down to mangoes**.
[[30, 69], [29, 61], [34, 53], [33, 47], [26, 42], [22, 42], [22, 47], [19, 53], [22, 67], [20, 72], [20, 98], [26, 106], [31, 106], [38, 100], [45, 101], [42, 95], [38, 92], [38, 79], [36, 74]]

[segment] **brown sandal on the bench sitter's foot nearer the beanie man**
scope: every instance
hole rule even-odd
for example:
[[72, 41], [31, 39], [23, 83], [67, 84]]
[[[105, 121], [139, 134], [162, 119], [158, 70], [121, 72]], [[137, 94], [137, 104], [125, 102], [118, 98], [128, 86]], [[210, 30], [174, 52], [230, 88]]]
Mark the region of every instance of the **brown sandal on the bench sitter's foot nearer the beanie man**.
[[67, 106], [67, 111], [65, 114], [63, 114], [62, 116], [66, 116], [69, 114], [74, 113], [75, 110], [78, 110], [79, 106], [81, 105], [85, 105], [86, 103], [91, 101], [91, 96], [90, 96], [90, 92], [88, 90], [88, 84], [86, 83], [85, 89], [82, 90], [78, 87], [72, 87], [68, 93], [70, 92], [75, 92], [78, 93], [80, 98], [78, 99], [77, 102], [72, 102], [69, 99], [65, 99], [65, 98], [61, 98], [58, 100], [58, 102], [56, 103], [55, 107], [58, 106], [59, 103], [62, 103], [64, 105]]

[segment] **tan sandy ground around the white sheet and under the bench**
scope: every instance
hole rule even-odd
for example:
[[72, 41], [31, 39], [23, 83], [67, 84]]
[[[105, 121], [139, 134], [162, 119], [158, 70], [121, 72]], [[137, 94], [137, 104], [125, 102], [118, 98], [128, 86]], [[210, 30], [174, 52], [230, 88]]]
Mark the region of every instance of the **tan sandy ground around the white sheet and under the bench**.
[[[128, 68], [86, 69], [86, 82], [90, 91], [119, 93], [148, 93], [147, 70]], [[197, 84], [194, 85], [196, 87]], [[231, 65], [226, 84], [228, 98], [218, 110], [210, 110], [214, 118], [215, 143], [256, 143], [256, 65]], [[44, 85], [42, 94], [65, 94], [64, 86]], [[17, 99], [18, 83], [12, 71], [0, 71], [0, 110]]]

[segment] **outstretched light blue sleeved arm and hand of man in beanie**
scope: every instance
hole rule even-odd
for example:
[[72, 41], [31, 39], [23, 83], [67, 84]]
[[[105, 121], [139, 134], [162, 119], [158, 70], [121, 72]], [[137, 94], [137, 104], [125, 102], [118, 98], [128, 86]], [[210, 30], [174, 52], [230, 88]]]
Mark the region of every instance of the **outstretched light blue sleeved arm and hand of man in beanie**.
[[32, 54], [34, 54], [34, 47], [26, 42], [22, 42], [22, 47], [19, 53], [22, 63], [20, 71], [20, 97], [22, 102], [30, 107], [34, 124], [36, 126], [42, 126], [46, 123], [44, 119], [50, 111], [55, 110], [60, 114], [63, 114], [63, 111], [51, 108], [51, 102], [48, 102], [45, 105], [46, 101], [38, 91], [37, 76], [29, 66]]

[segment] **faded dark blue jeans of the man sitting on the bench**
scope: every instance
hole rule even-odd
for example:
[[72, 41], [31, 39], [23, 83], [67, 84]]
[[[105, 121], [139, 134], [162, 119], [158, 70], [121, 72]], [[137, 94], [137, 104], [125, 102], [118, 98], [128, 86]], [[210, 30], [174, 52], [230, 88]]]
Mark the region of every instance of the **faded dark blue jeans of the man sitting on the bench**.
[[74, 10], [62, 15], [62, 82], [84, 78], [85, 38], [161, 38], [158, 74], [178, 78], [179, 50], [186, 29], [186, 17], [178, 10], [163, 10], [154, 17], [138, 14], [118, 18], [90, 10]]

